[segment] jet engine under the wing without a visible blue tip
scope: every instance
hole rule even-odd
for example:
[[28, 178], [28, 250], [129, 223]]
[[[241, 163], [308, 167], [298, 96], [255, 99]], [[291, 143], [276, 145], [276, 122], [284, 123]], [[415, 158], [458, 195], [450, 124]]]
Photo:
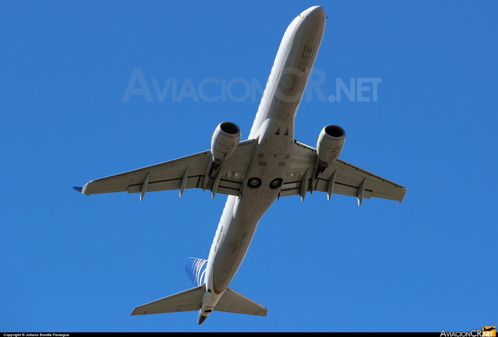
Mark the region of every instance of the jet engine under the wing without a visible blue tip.
[[338, 125], [327, 125], [322, 129], [316, 143], [316, 152], [318, 154], [316, 177], [339, 157], [345, 140], [346, 132]]

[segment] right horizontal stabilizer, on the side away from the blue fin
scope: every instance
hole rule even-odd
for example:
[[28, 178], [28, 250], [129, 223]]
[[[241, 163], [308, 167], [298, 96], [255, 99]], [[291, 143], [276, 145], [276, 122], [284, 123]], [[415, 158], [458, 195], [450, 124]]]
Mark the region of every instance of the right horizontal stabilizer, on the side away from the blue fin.
[[256, 316], [266, 316], [268, 313], [268, 309], [262, 305], [230, 288], [225, 290], [214, 310]]

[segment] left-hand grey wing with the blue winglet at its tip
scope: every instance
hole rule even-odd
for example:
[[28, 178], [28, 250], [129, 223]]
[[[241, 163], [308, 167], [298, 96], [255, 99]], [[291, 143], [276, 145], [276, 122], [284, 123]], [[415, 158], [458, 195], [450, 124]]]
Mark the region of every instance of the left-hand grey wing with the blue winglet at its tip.
[[[245, 177], [243, 172], [248, 170], [256, 144], [257, 142], [252, 140], [239, 143], [232, 157], [223, 164], [223, 172], [217, 193], [240, 195]], [[189, 171], [185, 188], [203, 188], [204, 176], [209, 165], [211, 165], [211, 151], [208, 150], [142, 169], [134, 169], [92, 180], [85, 186], [74, 186], [73, 188], [87, 195], [124, 191], [140, 193], [142, 183], [147, 173], [149, 173], [147, 192], [179, 189], [187, 166]], [[208, 179], [206, 189], [211, 189], [215, 178], [209, 177]]]

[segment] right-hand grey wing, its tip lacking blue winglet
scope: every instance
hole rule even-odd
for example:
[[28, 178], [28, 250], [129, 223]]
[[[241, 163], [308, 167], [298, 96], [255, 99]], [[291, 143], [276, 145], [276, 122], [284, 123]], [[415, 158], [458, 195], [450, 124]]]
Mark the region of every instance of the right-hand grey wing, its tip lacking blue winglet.
[[[403, 201], [406, 194], [406, 187], [403, 187], [395, 182], [389, 181], [367, 170], [360, 169], [352, 164], [337, 159], [330, 167], [319, 174], [315, 179], [316, 174], [317, 153], [316, 149], [309, 145], [294, 140], [292, 144], [292, 155], [287, 169], [287, 176], [282, 184], [280, 196], [298, 195], [304, 191], [322, 191], [327, 192], [329, 181], [333, 178], [334, 171], [335, 180], [333, 181], [333, 192], [337, 194], [356, 196], [359, 199], [370, 199], [372, 196]], [[304, 177], [307, 174], [307, 177]], [[304, 186], [301, 189], [301, 183]], [[363, 191], [363, 194], [359, 195]]]

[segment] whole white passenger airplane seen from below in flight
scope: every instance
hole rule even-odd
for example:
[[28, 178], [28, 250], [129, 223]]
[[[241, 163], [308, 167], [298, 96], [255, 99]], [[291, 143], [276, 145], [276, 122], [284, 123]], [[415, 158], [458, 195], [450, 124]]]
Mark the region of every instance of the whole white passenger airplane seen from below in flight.
[[258, 221], [280, 197], [309, 191], [378, 197], [401, 202], [406, 188], [338, 159], [346, 132], [325, 126], [316, 148], [294, 139], [294, 121], [320, 47], [325, 10], [313, 6], [296, 16], [278, 47], [249, 138], [232, 122], [220, 123], [211, 149], [141, 169], [92, 180], [77, 191], [90, 195], [202, 188], [228, 194], [208, 259], [189, 258], [185, 271], [194, 287], [133, 309], [131, 315], [198, 310], [202, 324], [213, 311], [266, 316], [267, 309], [229, 288], [247, 253]]

